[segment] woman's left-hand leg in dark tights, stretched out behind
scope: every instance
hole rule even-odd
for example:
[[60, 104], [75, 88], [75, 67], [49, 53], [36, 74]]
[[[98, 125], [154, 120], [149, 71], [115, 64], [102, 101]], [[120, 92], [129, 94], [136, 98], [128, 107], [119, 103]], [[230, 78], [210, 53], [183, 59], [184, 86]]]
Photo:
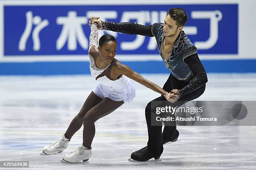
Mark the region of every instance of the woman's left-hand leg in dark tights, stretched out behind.
[[86, 113], [95, 105], [97, 105], [99, 102], [101, 102], [103, 99], [98, 97], [94, 94], [94, 92], [91, 92], [90, 95], [87, 97], [87, 99], [84, 102], [84, 105], [82, 106], [79, 113], [74, 117], [72, 122], [69, 125], [69, 128], [67, 129], [65, 133], [65, 137], [68, 139], [71, 139], [72, 136], [79, 130], [83, 124], [83, 118], [86, 115]]

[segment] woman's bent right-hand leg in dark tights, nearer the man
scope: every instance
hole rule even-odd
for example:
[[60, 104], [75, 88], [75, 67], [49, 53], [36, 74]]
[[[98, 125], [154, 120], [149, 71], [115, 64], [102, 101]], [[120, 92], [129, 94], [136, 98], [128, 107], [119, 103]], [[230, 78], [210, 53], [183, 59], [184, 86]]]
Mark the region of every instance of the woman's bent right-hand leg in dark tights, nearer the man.
[[123, 101], [114, 101], [108, 97], [105, 97], [101, 102], [92, 107], [84, 116], [84, 130], [83, 130], [83, 145], [86, 148], [91, 148], [92, 140], [95, 135], [95, 125], [94, 123], [104, 117], [118, 107], [123, 105]]

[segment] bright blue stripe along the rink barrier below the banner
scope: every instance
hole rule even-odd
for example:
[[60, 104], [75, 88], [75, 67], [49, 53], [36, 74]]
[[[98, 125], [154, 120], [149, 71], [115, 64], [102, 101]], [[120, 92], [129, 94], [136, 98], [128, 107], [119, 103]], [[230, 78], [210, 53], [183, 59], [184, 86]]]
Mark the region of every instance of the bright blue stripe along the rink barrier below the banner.
[[[170, 73], [162, 61], [126, 61], [138, 73]], [[207, 73], [253, 73], [256, 60], [202, 60]], [[2, 62], [0, 75], [90, 74], [89, 62]]]

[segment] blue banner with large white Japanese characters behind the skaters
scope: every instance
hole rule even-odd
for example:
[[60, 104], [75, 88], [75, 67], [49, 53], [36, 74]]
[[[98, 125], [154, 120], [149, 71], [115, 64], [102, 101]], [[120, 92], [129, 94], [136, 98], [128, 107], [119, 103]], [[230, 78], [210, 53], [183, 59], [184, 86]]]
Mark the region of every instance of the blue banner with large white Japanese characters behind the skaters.
[[[171, 5], [4, 6], [4, 55], [87, 55], [91, 16], [143, 25], [163, 22]], [[175, 5], [189, 20], [185, 33], [200, 54], [238, 53], [238, 5]], [[131, 10], [132, 9], [132, 10]], [[118, 54], [158, 54], [154, 37], [112, 34]]]

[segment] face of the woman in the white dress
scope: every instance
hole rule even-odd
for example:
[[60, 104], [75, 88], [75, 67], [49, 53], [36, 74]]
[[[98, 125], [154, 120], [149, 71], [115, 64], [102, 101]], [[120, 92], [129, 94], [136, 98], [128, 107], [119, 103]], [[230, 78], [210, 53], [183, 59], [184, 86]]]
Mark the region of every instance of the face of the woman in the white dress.
[[101, 59], [107, 63], [110, 63], [115, 57], [116, 47], [117, 44], [115, 41], [108, 41], [105, 42], [102, 47], [99, 46]]

